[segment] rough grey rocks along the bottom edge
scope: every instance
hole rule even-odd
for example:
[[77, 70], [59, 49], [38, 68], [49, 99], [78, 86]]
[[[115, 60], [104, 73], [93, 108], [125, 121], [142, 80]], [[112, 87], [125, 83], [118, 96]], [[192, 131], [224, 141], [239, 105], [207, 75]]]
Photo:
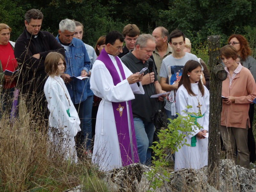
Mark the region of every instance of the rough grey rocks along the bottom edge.
[[[107, 183], [111, 192], [144, 192], [149, 190], [150, 181], [144, 172], [150, 167], [141, 164], [131, 164], [127, 167], [106, 172], [103, 180]], [[160, 175], [160, 174], [159, 174]], [[171, 173], [170, 182], [157, 188], [157, 192], [169, 191], [195, 191], [195, 192], [255, 192], [256, 171], [235, 165], [229, 159], [220, 160], [220, 188], [217, 190], [207, 182], [207, 167], [200, 170], [181, 169]], [[81, 186], [67, 190], [66, 192], [81, 192]], [[152, 190], [153, 191], [153, 190]]]

